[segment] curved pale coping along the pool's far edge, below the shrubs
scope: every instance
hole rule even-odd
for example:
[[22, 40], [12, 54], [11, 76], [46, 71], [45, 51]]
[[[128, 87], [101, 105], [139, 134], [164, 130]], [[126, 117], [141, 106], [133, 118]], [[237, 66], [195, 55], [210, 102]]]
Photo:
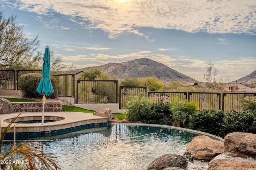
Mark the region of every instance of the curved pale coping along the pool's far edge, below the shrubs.
[[183, 127], [176, 127], [176, 126], [169, 126], [169, 125], [158, 125], [158, 124], [148, 124], [148, 123], [121, 123], [121, 122], [120, 123], [118, 123], [118, 122], [114, 123], [114, 122], [111, 122], [111, 125], [115, 125], [115, 124], [138, 125], [138, 126], [149, 126], [149, 127], [163, 127], [163, 128], [168, 128], [168, 129], [186, 131], [186, 132], [194, 133], [194, 134], [197, 134], [197, 135], [205, 135], [205, 136], [208, 136], [211, 139], [214, 139], [216, 141], [224, 142], [224, 139], [222, 139], [221, 137], [218, 137], [216, 135], [212, 135], [210, 133], [196, 131], [196, 130], [192, 130], [192, 129], [186, 129], [186, 128], [183, 128]]

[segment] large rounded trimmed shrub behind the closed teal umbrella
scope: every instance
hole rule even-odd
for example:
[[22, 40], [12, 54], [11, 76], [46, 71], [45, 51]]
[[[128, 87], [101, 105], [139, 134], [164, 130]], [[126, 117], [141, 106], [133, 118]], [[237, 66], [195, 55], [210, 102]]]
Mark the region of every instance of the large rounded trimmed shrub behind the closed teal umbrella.
[[[18, 87], [22, 91], [23, 96], [26, 98], [42, 98], [42, 96], [36, 92], [41, 79], [42, 75], [38, 73], [21, 75], [19, 78]], [[56, 80], [52, 76], [51, 82], [53, 88], [56, 87]], [[48, 96], [48, 98], [55, 98], [55, 93]]]

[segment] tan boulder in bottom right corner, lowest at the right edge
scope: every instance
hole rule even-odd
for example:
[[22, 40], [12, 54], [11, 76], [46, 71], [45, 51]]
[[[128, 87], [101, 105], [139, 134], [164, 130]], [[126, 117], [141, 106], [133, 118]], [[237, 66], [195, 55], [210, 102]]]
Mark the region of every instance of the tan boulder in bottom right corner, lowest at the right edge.
[[216, 156], [208, 165], [207, 170], [252, 170], [256, 169], [254, 158], [239, 157], [236, 153], [229, 152]]

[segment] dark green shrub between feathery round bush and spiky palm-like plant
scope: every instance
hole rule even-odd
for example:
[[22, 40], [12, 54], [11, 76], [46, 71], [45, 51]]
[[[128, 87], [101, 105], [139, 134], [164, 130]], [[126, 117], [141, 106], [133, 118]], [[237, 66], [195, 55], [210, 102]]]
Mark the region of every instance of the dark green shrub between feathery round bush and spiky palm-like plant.
[[151, 111], [141, 115], [142, 123], [172, 125], [172, 111], [170, 104], [158, 102], [153, 103]]

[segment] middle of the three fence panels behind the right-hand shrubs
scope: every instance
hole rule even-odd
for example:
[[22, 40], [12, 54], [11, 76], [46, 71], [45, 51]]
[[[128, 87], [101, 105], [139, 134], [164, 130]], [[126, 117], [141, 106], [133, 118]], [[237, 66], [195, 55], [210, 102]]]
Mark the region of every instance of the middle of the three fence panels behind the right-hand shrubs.
[[221, 109], [220, 93], [215, 92], [188, 92], [188, 101], [196, 102], [199, 109]]

